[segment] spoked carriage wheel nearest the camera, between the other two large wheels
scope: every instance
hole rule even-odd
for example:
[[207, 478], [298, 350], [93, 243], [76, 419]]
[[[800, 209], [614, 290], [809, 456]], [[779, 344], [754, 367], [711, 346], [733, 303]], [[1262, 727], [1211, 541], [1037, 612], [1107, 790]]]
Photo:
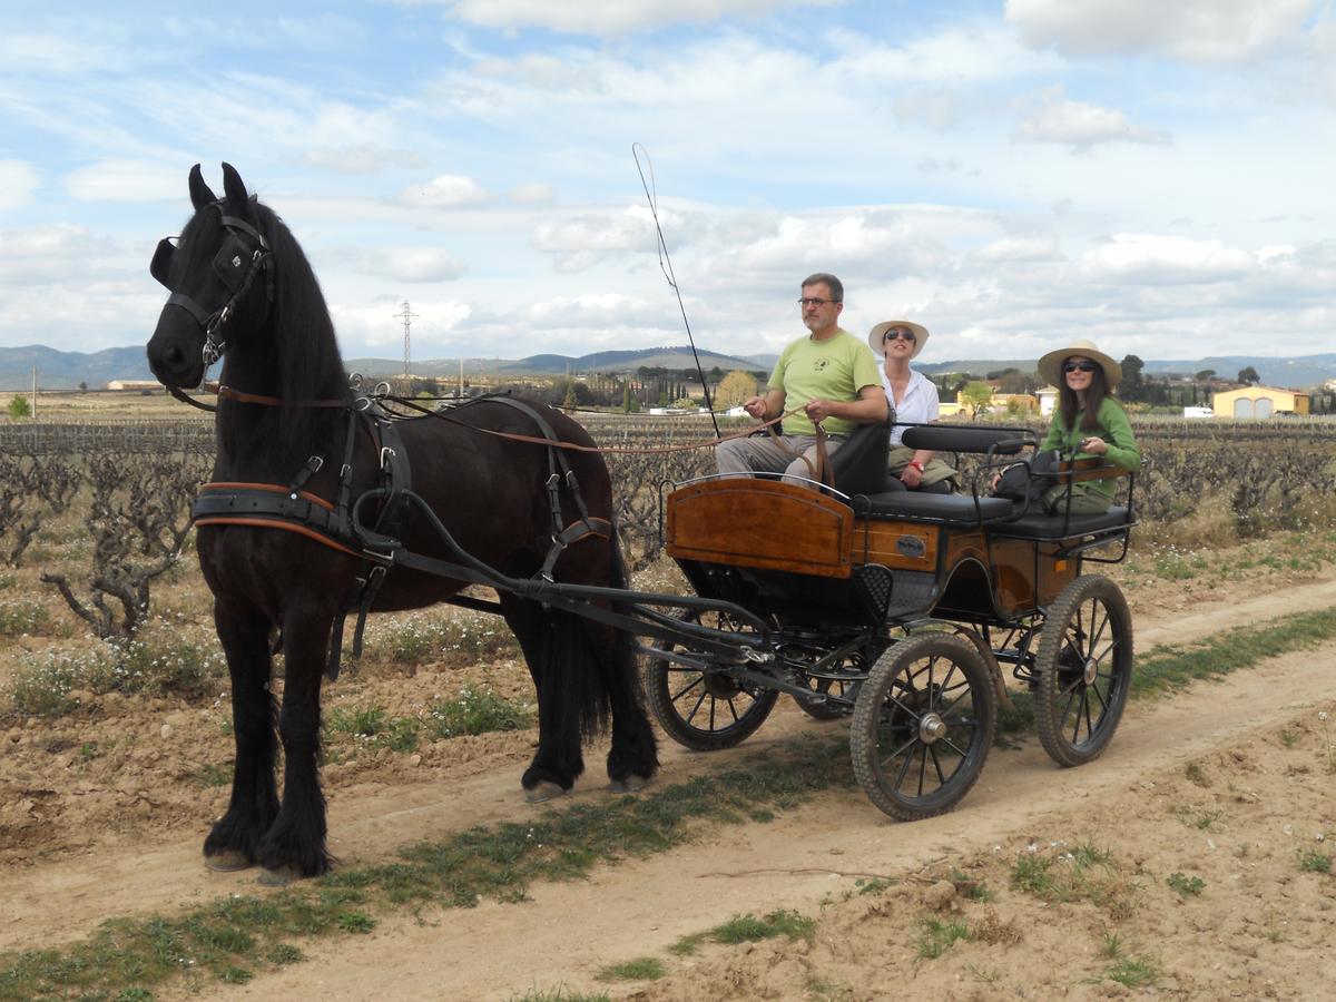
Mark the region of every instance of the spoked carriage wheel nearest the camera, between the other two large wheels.
[[882, 811], [912, 822], [949, 811], [983, 771], [997, 696], [974, 645], [922, 633], [891, 647], [854, 707], [854, 775]]

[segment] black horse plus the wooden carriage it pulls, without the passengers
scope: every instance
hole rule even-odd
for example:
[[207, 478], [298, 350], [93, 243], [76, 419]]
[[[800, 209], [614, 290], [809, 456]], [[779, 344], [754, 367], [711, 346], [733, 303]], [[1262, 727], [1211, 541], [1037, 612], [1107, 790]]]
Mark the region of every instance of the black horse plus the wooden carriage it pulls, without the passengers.
[[[387, 393], [350, 386], [291, 231], [228, 164], [223, 180], [219, 198], [198, 164], [190, 172], [194, 214], [150, 266], [170, 295], [147, 345], [158, 379], [195, 406], [186, 389], [222, 361], [214, 476], [194, 514], [236, 752], [208, 867], [259, 864], [266, 883], [331, 867], [321, 693], [354, 613], [354, 651], [369, 612], [450, 601], [505, 619], [538, 699], [521, 778], [530, 800], [570, 790], [581, 739], [608, 723], [613, 788], [653, 776], [641, 680], [664, 729], [692, 748], [741, 741], [786, 693], [815, 717], [851, 715], [859, 782], [906, 819], [950, 808], [978, 778], [1007, 700], [1002, 665], [1034, 689], [1039, 737], [1061, 764], [1110, 740], [1132, 625], [1118, 589], [1082, 570], [1125, 556], [1130, 505], [1031, 514], [978, 481], [969, 494], [887, 493], [887, 430], [867, 426], [834, 454], [830, 488], [675, 489], [665, 542], [695, 593], [633, 591], [589, 434], [505, 395], [399, 420]], [[906, 442], [974, 453], [986, 476], [1034, 438], [935, 426]], [[1120, 473], [1078, 464], [1061, 476]]]

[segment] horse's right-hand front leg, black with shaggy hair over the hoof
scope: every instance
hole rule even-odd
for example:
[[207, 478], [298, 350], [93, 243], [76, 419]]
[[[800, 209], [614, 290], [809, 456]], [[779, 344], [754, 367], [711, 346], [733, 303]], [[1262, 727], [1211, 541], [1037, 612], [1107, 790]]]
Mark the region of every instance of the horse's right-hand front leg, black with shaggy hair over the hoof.
[[283, 740], [283, 806], [259, 844], [265, 883], [319, 876], [330, 868], [325, 848], [325, 796], [321, 794], [321, 680], [333, 615], [311, 609], [283, 619], [283, 704], [278, 728]]

